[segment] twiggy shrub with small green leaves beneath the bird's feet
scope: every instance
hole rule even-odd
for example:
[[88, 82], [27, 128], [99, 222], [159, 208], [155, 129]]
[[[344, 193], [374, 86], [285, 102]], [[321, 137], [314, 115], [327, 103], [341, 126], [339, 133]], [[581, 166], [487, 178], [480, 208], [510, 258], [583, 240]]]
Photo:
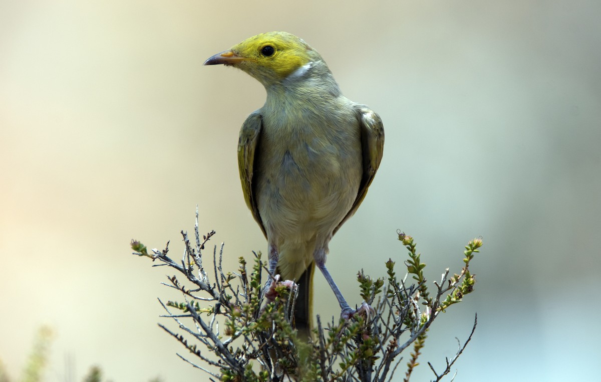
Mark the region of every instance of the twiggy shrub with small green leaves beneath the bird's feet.
[[[357, 280], [365, 301], [362, 308], [352, 318], [332, 319], [325, 327], [317, 316], [313, 337], [307, 340], [299, 336], [291, 321], [296, 290], [289, 283], [276, 280], [275, 300], [264, 298], [261, 274], [265, 267], [261, 253], [255, 254], [252, 270], [240, 257], [237, 273], [224, 273], [221, 266], [223, 245], [219, 256], [215, 247], [215, 279], [212, 280], [203, 268], [202, 250], [215, 232], [203, 236], [201, 242], [196, 228], [195, 246], [187, 233], [182, 234], [186, 245], [185, 261], [171, 260], [166, 256], [167, 247], [162, 251], [153, 250], [153, 254], [136, 254], [166, 263], [194, 285], [189, 288], [176, 276], [168, 277], [168, 286], [182, 293], [183, 301], [169, 301], [163, 307], [168, 313], [166, 316], [174, 319], [183, 334], [165, 325], [159, 326], [201, 362], [194, 363], [187, 357], [178, 356], [221, 381], [389, 380], [400, 362], [400, 354], [410, 347], [412, 351], [404, 375], [404, 380], [409, 381], [419, 365], [430, 325], [440, 313], [474, 290], [475, 276], [470, 273], [469, 264], [482, 245], [481, 239], [470, 241], [465, 247], [464, 266], [459, 274], [448, 277], [446, 270], [442, 279], [432, 285], [427, 283], [426, 263], [416, 252], [413, 238], [399, 232], [398, 239], [408, 250], [403, 273], [410, 275], [415, 283], [406, 285], [406, 276], [399, 279], [396, 262], [391, 259], [385, 264], [385, 277], [371, 279], [360, 271]], [[132, 241], [132, 248], [146, 247]], [[200, 297], [199, 292], [208, 297]], [[170, 309], [180, 313], [176, 315]], [[191, 321], [185, 323], [184, 319]], [[447, 360], [443, 372], [438, 374], [430, 365], [436, 381], [450, 372], [472, 334], [459, 347], [456, 356]], [[203, 347], [213, 353], [213, 357], [207, 357], [201, 351]]]

